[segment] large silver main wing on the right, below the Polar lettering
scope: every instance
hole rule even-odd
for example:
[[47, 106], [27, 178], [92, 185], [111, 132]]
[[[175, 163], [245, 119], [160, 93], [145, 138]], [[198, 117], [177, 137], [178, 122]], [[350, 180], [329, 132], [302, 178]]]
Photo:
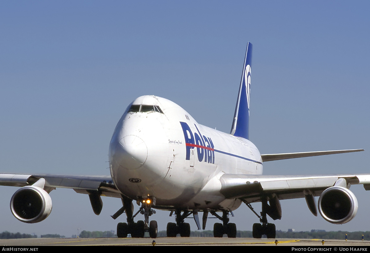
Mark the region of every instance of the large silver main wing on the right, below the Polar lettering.
[[[244, 174], [223, 174], [221, 194], [226, 198], [240, 198], [251, 202], [260, 201], [264, 195], [276, 194], [279, 200], [304, 198], [307, 192], [319, 196], [326, 188], [332, 187], [340, 179], [341, 186], [363, 184], [365, 190], [370, 190], [370, 174], [357, 175], [327, 175], [327, 176], [263, 176]], [[344, 185], [343, 185], [344, 184]]]

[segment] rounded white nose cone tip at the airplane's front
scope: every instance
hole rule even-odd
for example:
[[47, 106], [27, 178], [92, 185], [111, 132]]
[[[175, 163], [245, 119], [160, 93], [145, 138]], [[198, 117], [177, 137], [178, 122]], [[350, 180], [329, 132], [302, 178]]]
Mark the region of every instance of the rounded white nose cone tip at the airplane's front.
[[136, 135], [126, 135], [116, 142], [113, 159], [129, 170], [141, 167], [148, 157], [145, 142]]

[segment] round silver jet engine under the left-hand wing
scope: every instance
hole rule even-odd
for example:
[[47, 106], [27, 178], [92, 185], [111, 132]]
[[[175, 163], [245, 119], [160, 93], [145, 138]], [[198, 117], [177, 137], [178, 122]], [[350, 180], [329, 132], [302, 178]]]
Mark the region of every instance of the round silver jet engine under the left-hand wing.
[[13, 194], [10, 200], [11, 213], [22, 222], [43, 221], [51, 212], [50, 195], [37, 186], [25, 186]]

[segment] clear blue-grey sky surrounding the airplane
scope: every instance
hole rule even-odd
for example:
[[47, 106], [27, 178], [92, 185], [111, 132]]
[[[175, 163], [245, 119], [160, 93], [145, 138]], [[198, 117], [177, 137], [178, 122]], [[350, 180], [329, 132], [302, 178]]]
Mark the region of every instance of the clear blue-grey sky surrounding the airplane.
[[[1, 1], [0, 171], [109, 174], [114, 127], [142, 95], [229, 132], [250, 41], [250, 138], [261, 153], [365, 149], [266, 162], [264, 174], [370, 173], [369, 9], [369, 1]], [[304, 199], [286, 200], [276, 228], [369, 230], [370, 192], [351, 190], [359, 201], [351, 222], [332, 225]], [[71, 236], [125, 219], [110, 217], [119, 199], [103, 198], [96, 216], [87, 195], [57, 189], [50, 216], [24, 224], [9, 209], [16, 188], [0, 191], [2, 231]], [[258, 222], [245, 206], [234, 214], [238, 229]], [[174, 222], [168, 215], [152, 216], [160, 230]]]

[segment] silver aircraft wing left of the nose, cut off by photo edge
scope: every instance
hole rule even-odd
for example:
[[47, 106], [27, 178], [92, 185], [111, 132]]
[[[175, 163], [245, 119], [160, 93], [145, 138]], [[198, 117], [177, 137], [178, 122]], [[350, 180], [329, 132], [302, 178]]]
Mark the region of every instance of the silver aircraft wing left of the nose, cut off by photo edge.
[[77, 193], [121, 198], [111, 176], [68, 176], [50, 174], [0, 174], [0, 186], [30, 186], [39, 179], [45, 179], [44, 190], [48, 193], [55, 188], [71, 188]]

